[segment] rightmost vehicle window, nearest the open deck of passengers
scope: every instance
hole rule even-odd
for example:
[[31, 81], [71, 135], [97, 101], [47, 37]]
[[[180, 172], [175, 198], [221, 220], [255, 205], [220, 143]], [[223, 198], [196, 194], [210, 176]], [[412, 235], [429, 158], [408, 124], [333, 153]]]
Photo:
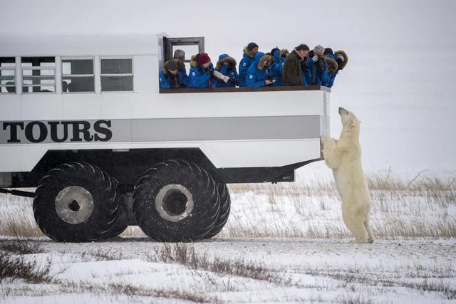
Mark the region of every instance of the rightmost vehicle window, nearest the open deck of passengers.
[[101, 59], [101, 91], [133, 91], [133, 61], [131, 58]]

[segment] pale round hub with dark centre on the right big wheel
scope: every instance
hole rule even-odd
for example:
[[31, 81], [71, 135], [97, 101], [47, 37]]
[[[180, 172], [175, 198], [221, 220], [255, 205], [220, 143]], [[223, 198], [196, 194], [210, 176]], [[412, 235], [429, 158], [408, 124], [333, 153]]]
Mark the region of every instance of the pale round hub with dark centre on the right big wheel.
[[182, 184], [167, 184], [155, 197], [155, 209], [167, 221], [182, 221], [193, 211], [192, 193]]

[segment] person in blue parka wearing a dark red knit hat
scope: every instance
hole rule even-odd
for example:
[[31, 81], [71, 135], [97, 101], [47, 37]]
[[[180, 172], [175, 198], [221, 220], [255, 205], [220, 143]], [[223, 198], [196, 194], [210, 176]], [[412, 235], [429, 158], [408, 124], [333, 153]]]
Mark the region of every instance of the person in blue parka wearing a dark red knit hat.
[[214, 66], [207, 53], [192, 56], [187, 88], [215, 88]]

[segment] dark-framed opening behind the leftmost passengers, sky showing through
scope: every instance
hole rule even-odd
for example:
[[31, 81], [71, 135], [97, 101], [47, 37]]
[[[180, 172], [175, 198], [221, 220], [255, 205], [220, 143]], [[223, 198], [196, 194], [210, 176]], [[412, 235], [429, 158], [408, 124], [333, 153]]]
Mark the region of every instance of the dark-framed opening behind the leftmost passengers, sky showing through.
[[160, 64], [160, 67], [172, 59], [176, 50], [185, 51], [185, 66], [187, 71], [190, 70], [190, 58], [197, 53], [204, 52], [204, 37], [181, 37], [168, 38], [163, 37], [163, 58], [165, 61]]

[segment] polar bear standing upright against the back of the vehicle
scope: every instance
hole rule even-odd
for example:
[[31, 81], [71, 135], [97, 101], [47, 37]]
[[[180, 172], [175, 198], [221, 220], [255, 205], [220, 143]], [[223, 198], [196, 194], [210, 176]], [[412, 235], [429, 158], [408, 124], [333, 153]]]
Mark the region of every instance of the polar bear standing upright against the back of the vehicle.
[[369, 226], [371, 198], [366, 177], [361, 168], [359, 120], [344, 108], [339, 108], [342, 132], [339, 140], [323, 136], [323, 158], [333, 169], [336, 187], [342, 198], [342, 218], [356, 243], [373, 243]]

